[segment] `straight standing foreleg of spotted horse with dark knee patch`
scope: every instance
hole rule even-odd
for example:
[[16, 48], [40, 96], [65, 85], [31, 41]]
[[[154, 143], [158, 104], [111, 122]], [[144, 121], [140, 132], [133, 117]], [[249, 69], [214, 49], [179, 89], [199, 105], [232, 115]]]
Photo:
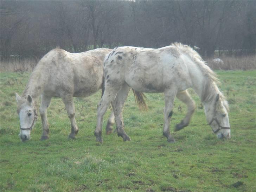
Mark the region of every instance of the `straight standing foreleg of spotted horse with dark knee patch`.
[[164, 110], [164, 116], [165, 116], [165, 123], [164, 123], [164, 129], [163, 134], [167, 137], [167, 141], [170, 143], [175, 143], [174, 137], [170, 134], [170, 121], [172, 117], [172, 108], [173, 108], [173, 102], [175, 98], [175, 91], [166, 91], [165, 92], [165, 110]]

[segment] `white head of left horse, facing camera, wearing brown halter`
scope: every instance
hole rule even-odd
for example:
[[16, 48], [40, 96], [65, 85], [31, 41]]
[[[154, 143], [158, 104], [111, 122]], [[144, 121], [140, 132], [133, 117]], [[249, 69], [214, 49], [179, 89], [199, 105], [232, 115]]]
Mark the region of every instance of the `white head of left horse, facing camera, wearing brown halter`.
[[30, 139], [30, 132], [37, 120], [36, 108], [33, 104], [33, 98], [27, 95], [27, 98], [20, 97], [16, 93], [17, 113], [20, 118], [20, 139], [26, 141]]

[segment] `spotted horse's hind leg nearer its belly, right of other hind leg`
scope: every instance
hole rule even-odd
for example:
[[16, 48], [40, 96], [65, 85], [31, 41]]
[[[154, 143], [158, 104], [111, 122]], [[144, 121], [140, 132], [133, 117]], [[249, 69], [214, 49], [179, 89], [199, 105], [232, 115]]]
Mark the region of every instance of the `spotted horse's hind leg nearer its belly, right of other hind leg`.
[[124, 124], [123, 124], [123, 106], [124, 102], [128, 96], [130, 87], [127, 84], [124, 84], [122, 89], [118, 91], [115, 101], [112, 103], [113, 111], [115, 114], [115, 121], [116, 121], [116, 128], [117, 128], [117, 135], [123, 137], [123, 141], [130, 141], [130, 137], [124, 131]]

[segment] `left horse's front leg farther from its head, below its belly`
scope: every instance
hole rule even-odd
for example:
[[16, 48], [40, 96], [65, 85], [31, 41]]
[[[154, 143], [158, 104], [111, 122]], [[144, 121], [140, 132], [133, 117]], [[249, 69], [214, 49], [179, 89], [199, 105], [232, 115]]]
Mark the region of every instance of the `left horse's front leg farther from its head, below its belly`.
[[75, 119], [75, 106], [73, 103], [73, 96], [72, 95], [65, 95], [62, 97], [62, 101], [65, 104], [65, 108], [67, 110], [70, 123], [71, 123], [71, 133], [69, 134], [69, 139], [75, 139], [76, 134], [78, 133], [78, 127], [76, 125]]

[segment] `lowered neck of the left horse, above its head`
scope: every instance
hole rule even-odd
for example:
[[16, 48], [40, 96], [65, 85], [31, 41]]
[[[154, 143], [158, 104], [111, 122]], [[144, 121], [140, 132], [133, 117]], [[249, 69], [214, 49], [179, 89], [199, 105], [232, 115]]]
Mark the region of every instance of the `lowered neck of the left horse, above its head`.
[[40, 72], [40, 70], [38, 69], [34, 70], [27, 82], [22, 97], [26, 98], [27, 95], [31, 95], [33, 100], [37, 101], [39, 96], [44, 91], [44, 87], [47, 83], [47, 80], [47, 73]]

